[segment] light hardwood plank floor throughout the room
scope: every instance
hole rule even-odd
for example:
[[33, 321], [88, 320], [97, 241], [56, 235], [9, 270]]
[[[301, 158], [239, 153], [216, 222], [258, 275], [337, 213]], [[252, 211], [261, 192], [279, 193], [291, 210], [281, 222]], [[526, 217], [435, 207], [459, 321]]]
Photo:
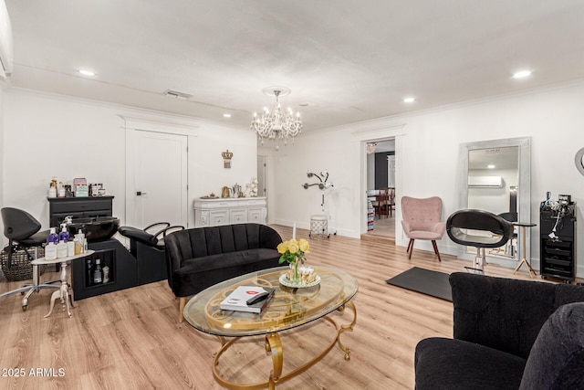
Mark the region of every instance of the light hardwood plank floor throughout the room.
[[[275, 228], [285, 239], [291, 236], [291, 228]], [[299, 229], [301, 237], [308, 238], [308, 231]], [[335, 346], [307, 372], [277, 388], [412, 389], [414, 347], [425, 337], [452, 337], [453, 307], [451, 302], [402, 290], [385, 280], [412, 266], [450, 273], [463, 271], [467, 263], [448, 255], [439, 263], [432, 252], [417, 249], [408, 260], [405, 248], [348, 237], [309, 242], [311, 265], [346, 269], [359, 280], [353, 300], [357, 325], [354, 332], [341, 336], [351, 359], [345, 361]], [[486, 273], [530, 279], [525, 269], [513, 276], [513, 269], [488, 265]], [[20, 284], [2, 279], [0, 291]], [[178, 300], [166, 281], [79, 300], [71, 319], [59, 310], [43, 318], [51, 292], [33, 295], [26, 312], [21, 310], [20, 295], [0, 300], [0, 388], [222, 388], [211, 372], [218, 339], [194, 330], [186, 321], [177, 322]], [[348, 323], [349, 313], [334, 315]], [[331, 330], [326, 321], [316, 321], [285, 332], [285, 370], [315, 353]], [[235, 343], [222, 359], [219, 370], [234, 381], [265, 381], [269, 373], [261, 337]], [[38, 374], [39, 368], [45, 373], [32, 376], [31, 369]], [[15, 369], [24, 369], [25, 376], [5, 376], [15, 374]]]

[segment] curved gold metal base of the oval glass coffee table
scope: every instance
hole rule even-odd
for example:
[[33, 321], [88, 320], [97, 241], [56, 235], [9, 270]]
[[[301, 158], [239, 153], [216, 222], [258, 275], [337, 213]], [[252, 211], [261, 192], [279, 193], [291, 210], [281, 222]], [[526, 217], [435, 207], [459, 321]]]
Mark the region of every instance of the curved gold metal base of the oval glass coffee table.
[[282, 342], [280, 340], [280, 336], [277, 332], [268, 333], [266, 334], [266, 353], [270, 353], [272, 355], [272, 364], [273, 369], [270, 371], [269, 378], [266, 382], [260, 384], [253, 384], [253, 385], [237, 385], [225, 380], [221, 374], [219, 374], [216, 370], [217, 365], [219, 365], [219, 358], [221, 355], [229, 349], [235, 342], [241, 339], [241, 337], [235, 337], [234, 339], [230, 340], [229, 342], [225, 343], [224, 337], [220, 337], [221, 340], [221, 349], [219, 352], [215, 354], [214, 361], [213, 361], [213, 375], [215, 380], [224, 387], [234, 389], [234, 390], [254, 390], [254, 389], [263, 389], [268, 388], [270, 390], [276, 389], [276, 385], [280, 383], [286, 382], [288, 379], [295, 377], [297, 374], [301, 374], [308, 370], [312, 365], [320, 361], [323, 357], [327, 355], [327, 353], [335, 346], [335, 344], [339, 345], [341, 351], [345, 353], [345, 360], [350, 360], [350, 350], [348, 347], [343, 345], [340, 342], [340, 335], [343, 332], [353, 331], [353, 327], [357, 323], [357, 309], [355, 308], [355, 304], [352, 301], [348, 301], [345, 305], [339, 307], [338, 311], [344, 311], [345, 306], [349, 306], [349, 308], [353, 311], [353, 321], [349, 323], [349, 325], [339, 325], [336, 321], [332, 320], [328, 317], [323, 317], [323, 320], [326, 320], [333, 324], [335, 330], [337, 331], [337, 335], [335, 339], [328, 344], [327, 348], [324, 351], [319, 353], [313, 359], [308, 361], [306, 364], [302, 364], [296, 370], [293, 370], [287, 374], [282, 374], [282, 368], [284, 364], [284, 354], [283, 354], [283, 347]]

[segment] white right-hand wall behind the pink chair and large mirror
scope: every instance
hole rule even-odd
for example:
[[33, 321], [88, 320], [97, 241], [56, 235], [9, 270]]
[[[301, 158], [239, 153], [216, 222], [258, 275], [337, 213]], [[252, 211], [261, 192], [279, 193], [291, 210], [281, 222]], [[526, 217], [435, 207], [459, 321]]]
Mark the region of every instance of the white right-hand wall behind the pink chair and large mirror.
[[[275, 222], [307, 223], [318, 211], [316, 190], [304, 190], [307, 169], [328, 168], [335, 184], [331, 192], [330, 214], [339, 234], [359, 237], [364, 232], [365, 203], [362, 198], [367, 183], [364, 144], [359, 140], [381, 139], [396, 135], [391, 129], [403, 124], [396, 136], [396, 180], [398, 205], [397, 245], [405, 246], [401, 232], [400, 197], [438, 195], [443, 199], [443, 218], [458, 209], [458, 153], [461, 142], [475, 142], [513, 137], [532, 137], [531, 215], [538, 223], [539, 202], [546, 191], [554, 197], [572, 195], [578, 202], [578, 217], [584, 206], [584, 177], [574, 166], [574, 155], [584, 144], [584, 83], [577, 82], [527, 94], [492, 100], [466, 102], [432, 111], [422, 111], [355, 123], [330, 131], [306, 131], [296, 145], [281, 148], [274, 157], [278, 197]], [[362, 175], [362, 178], [360, 177]], [[282, 201], [279, 201], [281, 199]], [[584, 227], [580, 227], [584, 229]], [[531, 256], [538, 267], [538, 227], [531, 230]], [[439, 242], [445, 253], [457, 248], [446, 236]], [[429, 242], [416, 248], [432, 250]], [[584, 275], [584, 235], [577, 239], [579, 275]]]

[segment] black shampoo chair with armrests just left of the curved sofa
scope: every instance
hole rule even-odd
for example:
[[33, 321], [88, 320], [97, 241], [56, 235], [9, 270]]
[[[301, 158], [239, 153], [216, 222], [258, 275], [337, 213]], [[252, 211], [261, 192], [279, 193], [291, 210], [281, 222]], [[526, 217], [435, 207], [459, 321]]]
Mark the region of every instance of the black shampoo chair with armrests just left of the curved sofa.
[[164, 237], [184, 227], [159, 222], [143, 229], [118, 227], [118, 233], [130, 238], [130, 254], [138, 261], [138, 284], [167, 279]]

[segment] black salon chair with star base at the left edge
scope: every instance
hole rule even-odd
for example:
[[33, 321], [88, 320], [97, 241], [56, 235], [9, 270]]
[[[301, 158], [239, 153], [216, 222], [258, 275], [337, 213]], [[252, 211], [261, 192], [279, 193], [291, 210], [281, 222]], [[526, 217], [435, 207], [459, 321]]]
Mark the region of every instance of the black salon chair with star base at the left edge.
[[[31, 216], [24, 210], [13, 207], [4, 207], [0, 210], [2, 213], [2, 223], [4, 224], [4, 235], [8, 238], [8, 245], [4, 249], [6, 258], [6, 267], [9, 269], [13, 266], [13, 255], [18, 250], [25, 250], [28, 260], [32, 261], [38, 258], [38, 248], [42, 247], [47, 242], [49, 230], [39, 232], [40, 223], [34, 216]], [[0, 294], [0, 297], [16, 294], [18, 292], [26, 295], [22, 300], [22, 309], [26, 311], [28, 298], [33, 292], [38, 292], [41, 289], [58, 289], [59, 285], [52, 283], [60, 282], [58, 280], [51, 280], [45, 283], [40, 283], [40, 269], [38, 266], [32, 266], [32, 284], [26, 284], [20, 289], [7, 291]]]

